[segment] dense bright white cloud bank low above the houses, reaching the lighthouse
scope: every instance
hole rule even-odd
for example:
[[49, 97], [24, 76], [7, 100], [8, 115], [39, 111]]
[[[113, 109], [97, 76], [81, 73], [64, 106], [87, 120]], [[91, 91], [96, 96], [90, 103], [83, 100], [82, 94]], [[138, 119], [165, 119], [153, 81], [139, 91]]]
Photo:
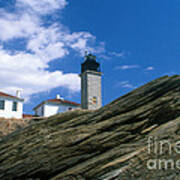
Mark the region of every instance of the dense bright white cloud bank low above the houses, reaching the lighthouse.
[[[66, 87], [72, 92], [80, 90], [80, 79], [77, 74], [63, 74], [61, 71], [48, 72], [47, 67], [36, 55], [18, 53], [10, 55], [0, 51], [0, 89], [14, 93], [23, 89], [23, 95], [47, 91], [55, 87]], [[32, 65], [32, 63], [34, 65]]]

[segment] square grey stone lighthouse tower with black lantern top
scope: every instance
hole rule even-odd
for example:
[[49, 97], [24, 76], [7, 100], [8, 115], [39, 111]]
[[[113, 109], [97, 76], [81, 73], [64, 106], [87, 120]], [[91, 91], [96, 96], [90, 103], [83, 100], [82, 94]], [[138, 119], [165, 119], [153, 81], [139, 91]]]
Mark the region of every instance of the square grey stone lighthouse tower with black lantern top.
[[85, 55], [81, 64], [81, 106], [82, 109], [96, 110], [102, 106], [100, 64], [96, 56]]

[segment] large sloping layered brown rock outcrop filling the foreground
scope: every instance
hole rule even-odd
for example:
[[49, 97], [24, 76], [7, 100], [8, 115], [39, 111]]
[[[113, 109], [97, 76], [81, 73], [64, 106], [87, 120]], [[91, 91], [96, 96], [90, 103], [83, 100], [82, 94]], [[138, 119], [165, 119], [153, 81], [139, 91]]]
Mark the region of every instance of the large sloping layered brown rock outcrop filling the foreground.
[[42, 119], [4, 137], [0, 179], [178, 180], [178, 140], [180, 76], [165, 76], [97, 111]]

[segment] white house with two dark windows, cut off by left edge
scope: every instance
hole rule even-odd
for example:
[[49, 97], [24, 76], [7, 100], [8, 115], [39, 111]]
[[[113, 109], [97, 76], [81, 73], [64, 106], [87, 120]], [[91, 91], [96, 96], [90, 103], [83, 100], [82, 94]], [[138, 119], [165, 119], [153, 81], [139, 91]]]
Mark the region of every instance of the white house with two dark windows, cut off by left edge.
[[19, 91], [17, 91], [16, 96], [0, 92], [0, 117], [21, 119], [23, 117], [23, 102], [24, 99], [20, 98]]

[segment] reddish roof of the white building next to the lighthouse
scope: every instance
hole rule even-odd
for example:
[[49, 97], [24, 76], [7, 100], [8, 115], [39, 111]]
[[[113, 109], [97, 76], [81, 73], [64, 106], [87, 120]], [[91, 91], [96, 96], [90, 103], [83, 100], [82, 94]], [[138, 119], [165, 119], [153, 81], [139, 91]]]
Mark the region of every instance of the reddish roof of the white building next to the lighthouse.
[[73, 105], [73, 106], [80, 106], [81, 104], [76, 103], [76, 102], [72, 102], [72, 101], [68, 101], [68, 100], [63, 100], [63, 99], [48, 99], [46, 101], [43, 101], [42, 103], [40, 103], [39, 105], [37, 105], [35, 109], [39, 108], [40, 106], [42, 106], [43, 104], [46, 103], [52, 103], [52, 104], [67, 104], [67, 105]]

